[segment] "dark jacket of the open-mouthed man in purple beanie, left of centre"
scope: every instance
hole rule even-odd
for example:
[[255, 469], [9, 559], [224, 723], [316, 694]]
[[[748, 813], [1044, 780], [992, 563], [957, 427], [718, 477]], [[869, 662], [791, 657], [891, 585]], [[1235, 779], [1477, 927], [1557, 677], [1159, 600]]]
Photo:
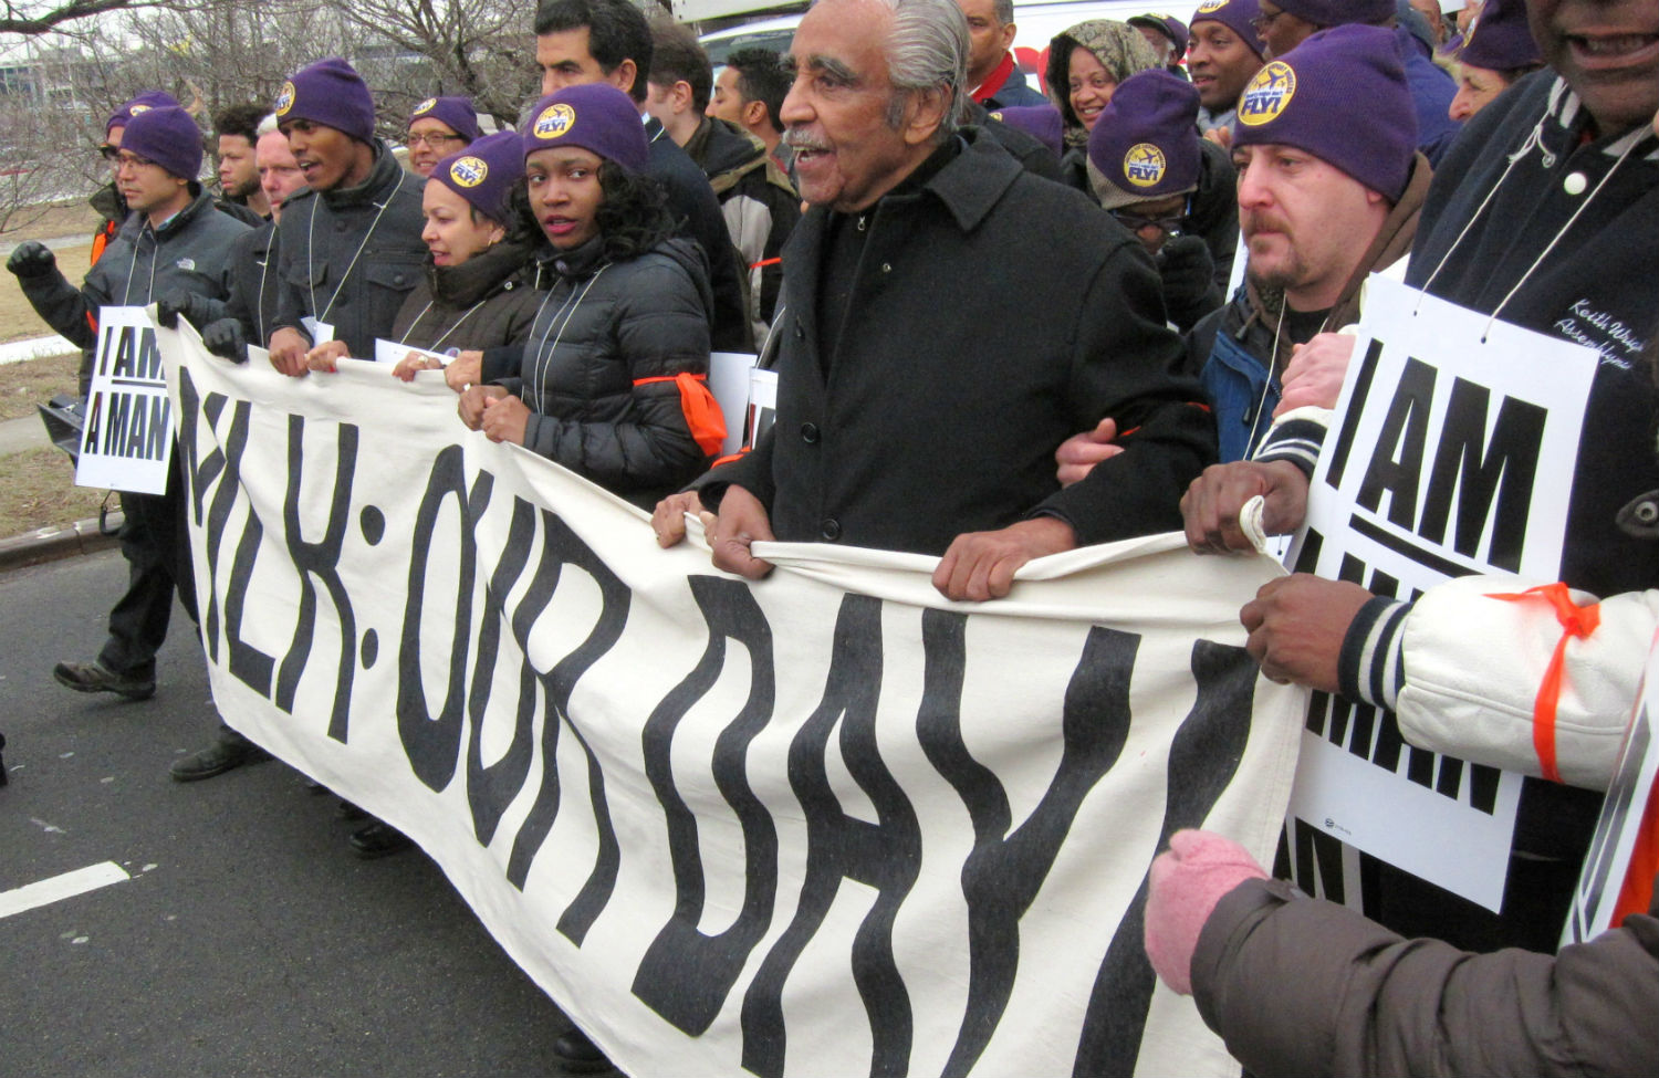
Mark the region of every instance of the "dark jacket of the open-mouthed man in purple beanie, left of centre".
[[277, 317], [269, 328], [309, 338], [300, 318], [310, 315], [332, 325], [353, 357], [373, 357], [375, 338], [392, 332], [421, 275], [425, 186], [377, 141], [375, 164], [357, 187], [322, 194], [302, 187], [289, 196], [277, 227]]

